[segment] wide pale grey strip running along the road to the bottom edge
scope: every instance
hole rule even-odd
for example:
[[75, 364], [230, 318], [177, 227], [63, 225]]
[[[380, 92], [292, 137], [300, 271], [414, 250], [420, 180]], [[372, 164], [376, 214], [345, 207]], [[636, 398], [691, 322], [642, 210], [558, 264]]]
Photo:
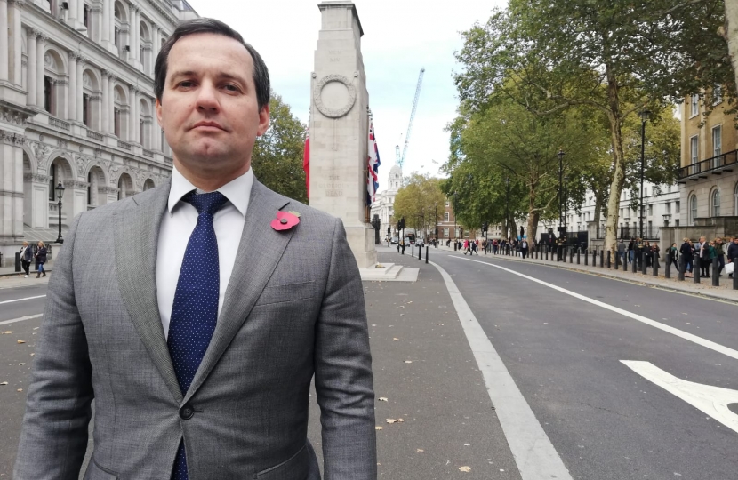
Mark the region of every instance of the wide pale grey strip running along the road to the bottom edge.
[[451, 295], [453, 307], [466, 334], [469, 347], [477, 360], [485, 379], [487, 393], [495, 406], [497, 418], [508, 440], [510, 452], [523, 480], [557, 478], [572, 480], [572, 476], [561, 460], [549, 436], [535, 418], [533, 410], [517, 388], [502, 359], [489, 341], [482, 325], [469, 308], [451, 276], [430, 261], [444, 277], [445, 287]]

